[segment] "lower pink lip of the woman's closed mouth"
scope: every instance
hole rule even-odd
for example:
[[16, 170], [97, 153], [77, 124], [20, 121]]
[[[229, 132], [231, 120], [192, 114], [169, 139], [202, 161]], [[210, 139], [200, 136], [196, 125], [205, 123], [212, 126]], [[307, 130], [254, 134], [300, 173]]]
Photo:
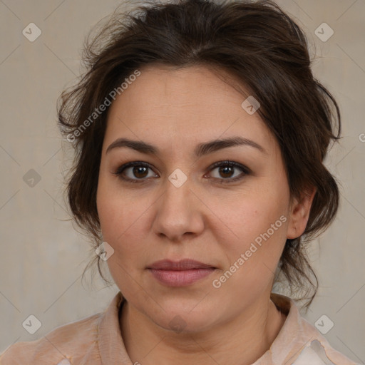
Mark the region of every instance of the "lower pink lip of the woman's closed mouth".
[[162, 270], [150, 269], [155, 279], [170, 287], [185, 287], [212, 274], [215, 269]]

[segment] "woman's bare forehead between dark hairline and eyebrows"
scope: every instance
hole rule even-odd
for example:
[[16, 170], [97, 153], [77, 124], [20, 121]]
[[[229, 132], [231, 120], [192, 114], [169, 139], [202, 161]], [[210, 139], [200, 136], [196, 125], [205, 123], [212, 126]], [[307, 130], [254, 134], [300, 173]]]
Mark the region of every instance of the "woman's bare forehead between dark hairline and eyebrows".
[[[258, 113], [248, 114], [243, 95], [204, 66], [148, 66], [115, 98], [105, 140], [130, 137], [177, 146], [240, 135], [268, 145], [273, 138]], [[273, 146], [274, 147], [274, 146]]]

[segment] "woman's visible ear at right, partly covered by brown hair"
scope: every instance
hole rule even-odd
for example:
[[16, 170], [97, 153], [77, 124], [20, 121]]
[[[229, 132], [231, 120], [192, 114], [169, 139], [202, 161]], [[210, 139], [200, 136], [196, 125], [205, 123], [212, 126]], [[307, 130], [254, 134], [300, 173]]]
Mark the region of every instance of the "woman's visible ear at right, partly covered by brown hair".
[[289, 211], [287, 238], [294, 240], [303, 234], [307, 227], [309, 212], [316, 192], [316, 187], [312, 187], [311, 189], [302, 192], [302, 195], [299, 198], [293, 198]]

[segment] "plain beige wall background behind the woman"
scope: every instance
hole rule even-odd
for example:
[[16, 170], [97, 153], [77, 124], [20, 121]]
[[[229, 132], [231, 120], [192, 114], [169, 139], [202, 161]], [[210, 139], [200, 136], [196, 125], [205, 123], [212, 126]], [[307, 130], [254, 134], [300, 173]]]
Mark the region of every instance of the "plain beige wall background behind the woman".
[[[344, 126], [327, 161], [341, 182], [341, 209], [312, 245], [320, 289], [304, 317], [314, 324], [326, 314], [334, 322], [325, 335], [332, 346], [364, 364], [365, 1], [277, 3], [307, 32], [317, 51], [314, 72], [338, 99]], [[98, 274], [92, 287], [90, 271], [81, 282], [92, 252], [68, 221], [61, 188], [69, 158], [56, 127], [56, 99], [81, 72], [84, 36], [118, 4], [0, 1], [0, 351], [101, 312], [118, 292], [103, 288]], [[34, 42], [22, 34], [31, 22], [42, 31]], [[326, 42], [314, 34], [323, 22], [334, 30]], [[34, 187], [23, 179], [30, 169], [41, 178]], [[42, 324], [33, 335], [21, 325], [30, 314]]]

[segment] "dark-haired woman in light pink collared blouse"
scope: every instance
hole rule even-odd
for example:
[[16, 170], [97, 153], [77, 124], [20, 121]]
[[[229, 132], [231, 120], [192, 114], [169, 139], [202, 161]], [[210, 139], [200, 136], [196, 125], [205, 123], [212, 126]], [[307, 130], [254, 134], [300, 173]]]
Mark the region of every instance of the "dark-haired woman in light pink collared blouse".
[[0, 364], [354, 364], [272, 293], [283, 276], [312, 302], [305, 245], [339, 202], [339, 109], [294, 21], [271, 1], [152, 4], [85, 58], [58, 110], [68, 200], [120, 292]]

